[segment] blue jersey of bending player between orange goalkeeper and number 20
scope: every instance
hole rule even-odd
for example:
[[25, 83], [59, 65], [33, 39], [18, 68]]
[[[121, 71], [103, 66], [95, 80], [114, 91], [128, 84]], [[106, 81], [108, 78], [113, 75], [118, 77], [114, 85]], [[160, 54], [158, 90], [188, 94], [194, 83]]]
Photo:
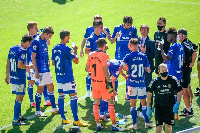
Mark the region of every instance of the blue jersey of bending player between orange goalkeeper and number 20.
[[121, 62], [119, 60], [116, 60], [116, 59], [110, 60], [110, 65], [108, 67], [110, 76], [114, 76], [115, 78], [119, 77], [120, 65], [121, 65]]

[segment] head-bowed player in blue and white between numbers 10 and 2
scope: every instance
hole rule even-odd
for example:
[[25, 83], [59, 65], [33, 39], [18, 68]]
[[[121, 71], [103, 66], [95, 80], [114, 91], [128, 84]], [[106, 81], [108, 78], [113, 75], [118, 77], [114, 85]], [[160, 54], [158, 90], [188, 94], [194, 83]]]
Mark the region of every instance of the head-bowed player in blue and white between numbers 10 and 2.
[[48, 96], [52, 104], [52, 114], [57, 114], [59, 112], [55, 104], [54, 85], [49, 69], [49, 55], [46, 44], [46, 40], [50, 39], [53, 34], [53, 28], [46, 27], [44, 28], [43, 33], [40, 36], [37, 36], [32, 42], [32, 61], [35, 69], [36, 83], [38, 84], [35, 95], [35, 115], [41, 117], [47, 117], [46, 114], [40, 111], [41, 96], [45, 85], [47, 85]]

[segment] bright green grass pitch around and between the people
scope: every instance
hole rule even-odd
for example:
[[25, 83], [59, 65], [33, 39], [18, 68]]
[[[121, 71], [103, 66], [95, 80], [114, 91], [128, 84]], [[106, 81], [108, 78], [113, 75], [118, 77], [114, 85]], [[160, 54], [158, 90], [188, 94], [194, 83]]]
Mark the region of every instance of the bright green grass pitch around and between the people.
[[[13, 127], [11, 124], [13, 119], [13, 105], [15, 96], [11, 94], [11, 86], [4, 82], [6, 60], [9, 48], [19, 44], [21, 37], [28, 33], [26, 24], [29, 21], [38, 22], [39, 28], [52, 26], [55, 34], [51, 39], [49, 46], [49, 54], [51, 57], [51, 49], [60, 42], [60, 30], [67, 29], [71, 32], [71, 41], [73, 40], [78, 46], [80, 45], [85, 33], [85, 29], [92, 25], [95, 14], [103, 16], [104, 25], [107, 26], [111, 34], [116, 25], [122, 23], [125, 15], [133, 17], [133, 25], [136, 26], [139, 33], [139, 27], [147, 24], [150, 27], [149, 36], [153, 39], [154, 32], [157, 30], [157, 19], [161, 16], [167, 19], [167, 28], [175, 27], [176, 29], [186, 28], [188, 30], [188, 38], [194, 43], [199, 42], [199, 22], [200, 22], [200, 1], [199, 0], [1, 0], [0, 1], [0, 130], [1, 132], [66, 132], [71, 125], [61, 126], [60, 115], [51, 115], [51, 107], [43, 107], [41, 110], [46, 111], [49, 117], [34, 117], [35, 109], [29, 107], [29, 98], [26, 94], [22, 104], [22, 114], [30, 118], [27, 126]], [[71, 46], [71, 44], [69, 44]], [[107, 53], [114, 58], [115, 44], [110, 44]], [[92, 98], [85, 99], [86, 94], [84, 71], [87, 56], [80, 58], [78, 65], [73, 65], [75, 81], [78, 88], [78, 105], [79, 117], [89, 124], [87, 128], [81, 128], [83, 133], [95, 132], [96, 123], [94, 121], [92, 111]], [[51, 66], [55, 84], [55, 97], [58, 99], [54, 67]], [[156, 75], [153, 74], [155, 77]], [[191, 86], [193, 91], [198, 86], [196, 63], [192, 71]], [[115, 105], [117, 113], [124, 115], [130, 114], [130, 105], [125, 102], [125, 84], [124, 79], [119, 77], [119, 102]], [[34, 86], [34, 93], [36, 87]], [[66, 116], [73, 120], [71, 109], [69, 106], [69, 97], [65, 99], [65, 110], [68, 111]], [[43, 105], [44, 99], [42, 98]], [[173, 127], [173, 132], [200, 126], [199, 114], [200, 98], [193, 99], [194, 115], [190, 118], [180, 118]], [[184, 102], [181, 101], [180, 109], [184, 108]], [[144, 119], [138, 118], [137, 132], [155, 132], [156, 128], [144, 129]], [[155, 124], [154, 117], [151, 121]], [[128, 120], [126, 125], [122, 125], [128, 129], [132, 120]], [[105, 129], [102, 132], [109, 132], [111, 122], [103, 123]], [[128, 132], [131, 130], [128, 129]]]

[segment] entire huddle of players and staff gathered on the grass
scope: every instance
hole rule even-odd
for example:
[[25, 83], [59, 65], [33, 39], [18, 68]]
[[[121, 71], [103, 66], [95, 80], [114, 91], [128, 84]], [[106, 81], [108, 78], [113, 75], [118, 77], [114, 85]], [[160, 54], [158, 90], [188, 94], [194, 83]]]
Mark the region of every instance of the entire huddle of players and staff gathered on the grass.
[[[190, 75], [197, 57], [198, 46], [187, 38], [186, 29], [166, 30], [166, 19], [163, 17], [157, 21], [158, 31], [154, 34], [154, 40], [148, 36], [150, 29], [148, 25], [141, 25], [141, 37], [138, 37], [137, 29], [132, 24], [132, 17], [125, 16], [123, 24], [116, 26], [111, 35], [110, 30], [103, 25], [102, 17], [95, 15], [93, 26], [86, 29], [81, 44], [80, 56], [84, 56], [85, 45], [85, 53], [88, 55], [85, 67], [85, 71], [88, 72], [86, 97], [90, 97], [92, 90], [97, 131], [103, 129], [100, 120], [110, 121], [109, 117], [112, 121], [112, 131], [126, 130], [116, 124], [114, 109], [115, 101], [118, 101], [118, 77], [121, 74], [126, 80], [125, 99], [130, 101], [130, 113], [133, 119], [129, 128], [137, 130], [137, 111], [145, 119], [145, 128], [154, 127], [149, 121], [154, 110], [156, 132], [162, 131], [163, 123], [165, 131], [172, 132], [174, 119], [179, 119], [178, 116], [193, 116]], [[44, 105], [52, 106], [52, 114], [60, 114], [63, 124], [72, 123], [65, 117], [64, 111], [64, 99], [66, 94], [69, 94], [73, 124], [87, 127], [88, 125], [78, 117], [77, 88], [72, 69], [72, 61], [75, 64], [79, 63], [78, 47], [74, 45], [70, 48], [66, 45], [69, 43], [70, 32], [60, 31], [61, 42], [52, 49], [50, 63], [48, 45], [54, 34], [53, 28], [46, 27], [41, 34], [38, 34], [37, 23], [29, 22], [27, 29], [29, 34], [22, 37], [19, 45], [10, 48], [7, 59], [5, 81], [11, 83], [12, 94], [16, 94], [12, 124], [18, 126], [27, 124], [25, 123], [27, 119], [21, 114], [27, 75], [30, 106], [36, 108], [36, 116], [47, 117], [40, 111], [43, 93]], [[116, 42], [115, 59], [110, 60], [109, 54], [106, 53], [108, 49], [106, 38], [111, 44]], [[55, 103], [50, 64], [55, 66], [58, 103]], [[154, 69], [158, 77], [152, 79]], [[34, 84], [37, 85], [35, 100]], [[153, 95], [155, 95], [154, 108]], [[186, 108], [178, 115], [182, 95]], [[136, 108], [137, 99], [140, 99], [138, 108]]]

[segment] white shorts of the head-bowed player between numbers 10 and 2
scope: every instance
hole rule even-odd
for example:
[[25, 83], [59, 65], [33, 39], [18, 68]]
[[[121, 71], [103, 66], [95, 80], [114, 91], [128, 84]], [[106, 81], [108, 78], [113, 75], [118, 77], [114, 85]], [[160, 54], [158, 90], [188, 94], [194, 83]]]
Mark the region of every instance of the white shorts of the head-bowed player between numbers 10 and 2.
[[35, 84], [37, 86], [45, 86], [53, 83], [53, 79], [50, 72], [39, 73], [39, 74], [40, 74], [40, 79], [37, 78], [35, 79]]

